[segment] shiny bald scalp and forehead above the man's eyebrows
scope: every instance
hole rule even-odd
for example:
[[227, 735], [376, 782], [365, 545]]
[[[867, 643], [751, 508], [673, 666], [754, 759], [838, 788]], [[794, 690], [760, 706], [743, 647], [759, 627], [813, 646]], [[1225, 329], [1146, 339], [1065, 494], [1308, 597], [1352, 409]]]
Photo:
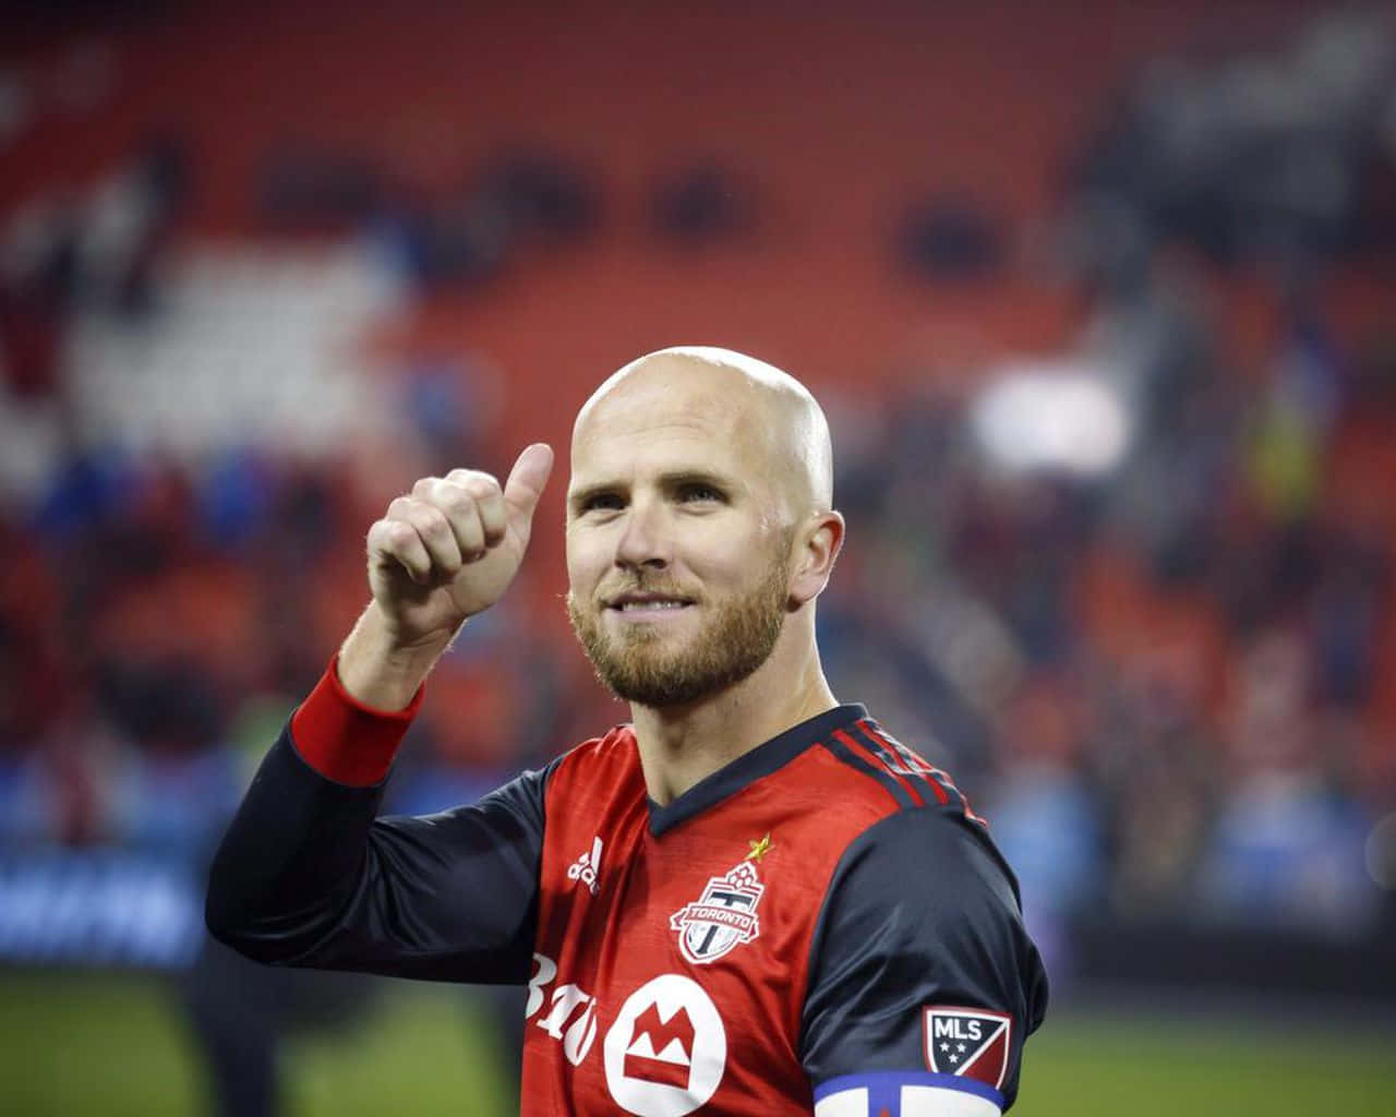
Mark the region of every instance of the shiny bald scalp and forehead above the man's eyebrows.
[[673, 346], [613, 373], [582, 405], [572, 462], [591, 440], [646, 427], [702, 427], [747, 451], [792, 519], [833, 504], [833, 452], [819, 404], [789, 373], [713, 346]]

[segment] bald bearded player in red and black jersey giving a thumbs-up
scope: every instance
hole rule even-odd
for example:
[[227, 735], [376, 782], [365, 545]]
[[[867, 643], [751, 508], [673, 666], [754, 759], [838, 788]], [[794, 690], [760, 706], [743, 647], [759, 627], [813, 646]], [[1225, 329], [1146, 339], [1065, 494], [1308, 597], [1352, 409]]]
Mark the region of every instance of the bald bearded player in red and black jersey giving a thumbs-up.
[[268, 962], [528, 984], [525, 1114], [980, 1117], [1046, 979], [948, 776], [819, 667], [843, 542], [828, 426], [778, 369], [666, 349], [572, 431], [568, 613], [631, 704], [475, 807], [374, 818], [431, 665], [505, 592], [553, 455], [416, 483], [373, 602], [218, 855], [215, 934]]

